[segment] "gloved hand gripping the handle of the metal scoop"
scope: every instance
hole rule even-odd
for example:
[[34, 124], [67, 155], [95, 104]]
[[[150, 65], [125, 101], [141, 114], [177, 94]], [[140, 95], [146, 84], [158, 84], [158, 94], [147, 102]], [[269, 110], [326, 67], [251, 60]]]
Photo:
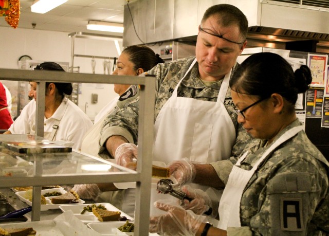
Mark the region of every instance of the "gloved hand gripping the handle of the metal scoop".
[[[184, 199], [180, 204], [185, 210], [191, 210], [195, 214], [202, 215], [212, 208], [212, 202], [210, 197], [206, 192], [201, 189], [192, 189], [190, 186], [185, 185], [181, 188], [182, 192], [186, 193], [186, 196], [193, 198], [190, 202], [187, 199]], [[211, 212], [210, 212], [211, 213]], [[209, 215], [209, 211], [207, 212]]]

